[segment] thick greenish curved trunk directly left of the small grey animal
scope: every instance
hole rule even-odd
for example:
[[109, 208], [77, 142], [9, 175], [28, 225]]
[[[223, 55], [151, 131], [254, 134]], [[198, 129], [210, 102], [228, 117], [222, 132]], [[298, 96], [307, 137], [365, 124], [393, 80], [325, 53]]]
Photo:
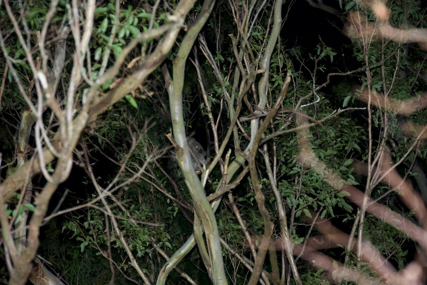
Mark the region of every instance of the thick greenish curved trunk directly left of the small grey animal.
[[[173, 81], [168, 82], [168, 93], [170, 100], [170, 117], [172, 119], [173, 137], [178, 143], [179, 149], [177, 149], [177, 160], [179, 166], [184, 174], [185, 182], [189, 188], [190, 195], [194, 202], [194, 209], [199, 216], [203, 227], [206, 231], [209, 262], [208, 257], [205, 256], [205, 266], [208, 271], [212, 270], [211, 279], [215, 285], [227, 284], [225, 270], [222, 260], [222, 250], [219, 241], [219, 232], [216, 224], [216, 219], [211, 205], [206, 197], [205, 191], [203, 190], [202, 183], [197, 176], [196, 170], [192, 164], [191, 155], [188, 147], [187, 137], [185, 134], [184, 125], [184, 112], [182, 106], [182, 90], [184, 86], [184, 75], [185, 75], [185, 64], [188, 58], [191, 48], [200, 33], [202, 27], [205, 25], [208, 17], [210, 16], [214, 7], [214, 0], [206, 0], [203, 3], [201, 12], [199, 13], [196, 21], [188, 29], [187, 34], [181, 42], [180, 49], [173, 62]], [[163, 69], [163, 73], [166, 75], [166, 69]], [[173, 85], [171, 85], [172, 83]], [[201, 231], [196, 227], [200, 227], [199, 223], [194, 223], [195, 231], [199, 232], [197, 235], [201, 238]], [[201, 252], [206, 253], [204, 243], [199, 240], [198, 246], [201, 248]], [[207, 264], [208, 263], [208, 264]], [[210, 267], [212, 266], [212, 269]]]

